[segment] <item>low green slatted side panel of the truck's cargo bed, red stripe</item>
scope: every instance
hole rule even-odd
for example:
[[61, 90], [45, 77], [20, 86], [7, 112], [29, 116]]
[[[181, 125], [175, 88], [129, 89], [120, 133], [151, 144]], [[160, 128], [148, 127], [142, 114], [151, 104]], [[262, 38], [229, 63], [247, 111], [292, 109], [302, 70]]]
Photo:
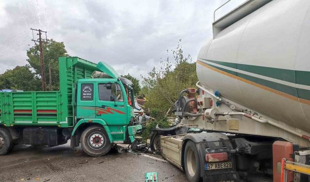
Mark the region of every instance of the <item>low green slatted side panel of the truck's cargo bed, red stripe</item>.
[[47, 92], [1, 93], [1, 123], [11, 125], [60, 125], [61, 94]]

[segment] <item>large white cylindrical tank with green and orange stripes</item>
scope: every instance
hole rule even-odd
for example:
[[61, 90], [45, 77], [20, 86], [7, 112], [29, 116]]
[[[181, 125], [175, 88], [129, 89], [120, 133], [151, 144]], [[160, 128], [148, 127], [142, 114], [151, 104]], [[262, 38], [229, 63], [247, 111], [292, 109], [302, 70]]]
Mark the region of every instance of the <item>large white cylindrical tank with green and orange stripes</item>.
[[213, 23], [196, 68], [202, 85], [310, 132], [310, 0], [248, 0]]

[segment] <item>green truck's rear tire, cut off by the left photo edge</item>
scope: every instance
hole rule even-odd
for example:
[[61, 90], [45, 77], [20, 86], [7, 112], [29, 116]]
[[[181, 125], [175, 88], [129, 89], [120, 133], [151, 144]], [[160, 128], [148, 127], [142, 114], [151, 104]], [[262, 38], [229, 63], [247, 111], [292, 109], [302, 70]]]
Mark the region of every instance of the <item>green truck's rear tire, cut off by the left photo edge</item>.
[[5, 128], [0, 128], [0, 155], [5, 155], [14, 147], [10, 132]]

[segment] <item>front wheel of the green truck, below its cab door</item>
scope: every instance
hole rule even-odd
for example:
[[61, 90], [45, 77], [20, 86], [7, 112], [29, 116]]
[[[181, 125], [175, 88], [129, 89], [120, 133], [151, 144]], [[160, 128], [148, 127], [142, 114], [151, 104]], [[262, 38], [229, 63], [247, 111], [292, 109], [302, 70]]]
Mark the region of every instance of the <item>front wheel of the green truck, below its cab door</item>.
[[88, 127], [81, 135], [81, 147], [90, 156], [102, 156], [110, 151], [112, 145], [109, 136], [102, 126]]

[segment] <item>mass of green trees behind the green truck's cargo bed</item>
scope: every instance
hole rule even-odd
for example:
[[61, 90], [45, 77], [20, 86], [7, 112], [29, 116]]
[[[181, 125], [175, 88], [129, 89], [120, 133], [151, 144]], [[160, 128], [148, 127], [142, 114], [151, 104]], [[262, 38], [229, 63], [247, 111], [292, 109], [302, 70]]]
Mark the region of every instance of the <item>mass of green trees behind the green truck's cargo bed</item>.
[[[47, 39], [46, 44], [43, 44], [43, 54], [47, 90], [59, 90], [58, 58], [69, 56], [67, 50], [65, 50], [64, 43]], [[31, 47], [27, 50], [27, 56], [27, 65], [16, 66], [14, 69], [8, 69], [0, 75], [0, 89], [42, 90], [39, 47], [36, 45]]]

